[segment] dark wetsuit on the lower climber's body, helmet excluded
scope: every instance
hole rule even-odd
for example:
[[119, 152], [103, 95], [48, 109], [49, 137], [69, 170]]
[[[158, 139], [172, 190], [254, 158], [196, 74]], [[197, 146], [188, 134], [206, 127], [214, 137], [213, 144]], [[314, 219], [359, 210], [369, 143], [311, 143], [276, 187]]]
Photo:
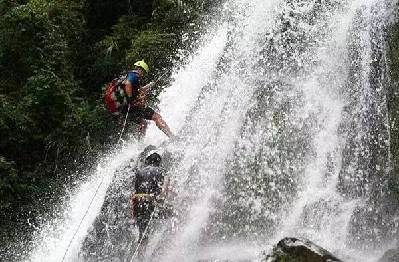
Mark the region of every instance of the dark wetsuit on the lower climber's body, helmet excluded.
[[135, 201], [133, 211], [136, 216], [140, 239], [151, 219], [156, 205], [156, 197], [162, 192], [165, 171], [160, 167], [146, 166], [136, 173]]

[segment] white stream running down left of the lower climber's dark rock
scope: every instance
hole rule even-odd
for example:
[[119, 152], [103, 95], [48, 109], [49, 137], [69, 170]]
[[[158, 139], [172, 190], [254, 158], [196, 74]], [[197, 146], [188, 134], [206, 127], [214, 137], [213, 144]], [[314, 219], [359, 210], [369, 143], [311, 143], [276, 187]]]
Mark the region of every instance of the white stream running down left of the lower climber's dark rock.
[[[77, 260], [80, 245], [87, 235], [88, 228], [100, 212], [114, 173], [139, 152], [137, 145], [132, 144], [122, 149], [120, 153], [112, 153], [103, 159], [103, 163], [97, 167], [95, 174], [71, 193], [69, 202], [64, 203], [64, 213], [58, 219], [49, 221], [34, 238], [36, 247], [29, 261], [62, 261], [72, 239], [72, 244], [65, 254], [65, 261]], [[97, 190], [98, 193], [96, 193]], [[90, 205], [95, 194], [95, 201]], [[88, 209], [90, 212], [82, 221]], [[79, 224], [81, 224], [80, 227]], [[79, 231], [75, 236], [78, 227]]]

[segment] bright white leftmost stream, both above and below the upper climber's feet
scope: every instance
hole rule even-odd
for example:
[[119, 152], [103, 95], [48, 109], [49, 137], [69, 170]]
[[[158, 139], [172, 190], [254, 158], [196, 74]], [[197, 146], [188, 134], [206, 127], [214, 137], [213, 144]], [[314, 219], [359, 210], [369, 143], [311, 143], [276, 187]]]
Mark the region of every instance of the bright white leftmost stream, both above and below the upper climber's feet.
[[[168, 113], [165, 119], [172, 123], [171, 127], [175, 132], [184, 123], [184, 118], [189, 110], [188, 106], [195, 103], [201, 88], [210, 79], [226, 40], [226, 32], [223, 27], [216, 34], [212, 33], [204, 39], [204, 43], [207, 44], [199, 49], [188, 66], [175, 72], [174, 84], [167, 93], [162, 95], [162, 105], [166, 103], [166, 106], [161, 105], [162, 113], [164, 115]], [[174, 118], [176, 119], [172, 122], [171, 119]], [[144, 145], [159, 144], [162, 140], [163, 134], [160, 134], [156, 127], [150, 125]], [[78, 253], [82, 241], [100, 212], [105, 193], [115, 173], [137, 157], [142, 148], [143, 145], [133, 142], [120, 149], [119, 152], [111, 153], [102, 159], [100, 161], [102, 164], [98, 166], [97, 171], [80, 187], [71, 192], [71, 199], [64, 203], [64, 214], [60, 215], [59, 219], [48, 221], [48, 224], [44, 225], [34, 237], [35, 248], [28, 261], [41, 262], [44, 259], [46, 261], [62, 261], [67, 249], [65, 261], [79, 260]], [[96, 194], [97, 189], [98, 193]], [[95, 196], [95, 201], [89, 206], [93, 196]], [[89, 215], [82, 221], [87, 209], [89, 209]], [[83, 223], [76, 236], [73, 237], [81, 222]], [[72, 245], [68, 248], [71, 240]]]

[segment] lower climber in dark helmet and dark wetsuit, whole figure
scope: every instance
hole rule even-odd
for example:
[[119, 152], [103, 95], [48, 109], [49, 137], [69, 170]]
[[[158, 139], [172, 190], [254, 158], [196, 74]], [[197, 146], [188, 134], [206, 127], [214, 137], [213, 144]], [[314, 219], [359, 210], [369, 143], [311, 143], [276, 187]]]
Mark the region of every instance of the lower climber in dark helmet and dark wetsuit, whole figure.
[[[168, 193], [169, 180], [161, 168], [162, 158], [150, 151], [144, 161], [144, 167], [136, 172], [135, 193], [131, 197], [132, 215], [139, 229], [139, 241], [147, 239], [147, 227], [158, 216], [159, 205]], [[157, 210], [156, 210], [157, 209]]]

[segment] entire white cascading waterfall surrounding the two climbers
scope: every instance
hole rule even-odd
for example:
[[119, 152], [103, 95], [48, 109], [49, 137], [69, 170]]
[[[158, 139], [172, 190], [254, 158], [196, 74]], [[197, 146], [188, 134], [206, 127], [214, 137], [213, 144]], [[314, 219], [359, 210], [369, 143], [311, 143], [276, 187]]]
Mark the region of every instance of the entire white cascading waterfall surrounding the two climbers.
[[[169, 169], [175, 215], [154, 222], [148, 261], [256, 261], [285, 236], [344, 261], [378, 259], [397, 231], [386, 189], [386, 17], [378, 0], [223, 5], [160, 98], [178, 135], [166, 148], [178, 155]], [[143, 144], [160, 135], [151, 126]], [[88, 182], [106, 177], [68, 261], [130, 260], [131, 175], [111, 178], [143, 148], [132, 143]], [[30, 261], [60, 261], [85, 194], [83, 186], [72, 218], [50, 229], [58, 236], [42, 232]]]

